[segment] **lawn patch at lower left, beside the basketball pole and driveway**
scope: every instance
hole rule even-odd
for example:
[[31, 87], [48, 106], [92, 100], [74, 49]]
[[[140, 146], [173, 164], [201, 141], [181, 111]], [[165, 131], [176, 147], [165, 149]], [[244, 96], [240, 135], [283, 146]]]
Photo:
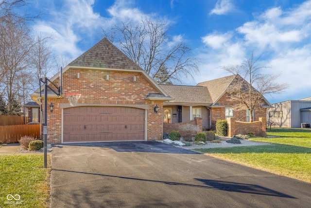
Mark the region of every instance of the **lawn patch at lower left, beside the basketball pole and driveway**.
[[[49, 207], [51, 168], [44, 169], [43, 161], [43, 155], [0, 156], [1, 208]], [[19, 195], [20, 199], [15, 200], [9, 194], [17, 199]]]

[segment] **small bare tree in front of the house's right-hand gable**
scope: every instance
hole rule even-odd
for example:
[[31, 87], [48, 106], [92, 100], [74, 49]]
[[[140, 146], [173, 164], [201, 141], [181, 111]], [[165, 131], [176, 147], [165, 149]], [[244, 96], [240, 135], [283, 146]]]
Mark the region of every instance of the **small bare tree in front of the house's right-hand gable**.
[[231, 100], [235, 101], [235, 110], [248, 110], [250, 122], [254, 120], [253, 111], [259, 109], [265, 104], [264, 95], [278, 94], [288, 88], [286, 83], [276, 83], [277, 77], [280, 75], [261, 74], [263, 68], [269, 68], [259, 64], [259, 57], [254, 57], [254, 53], [250, 57], [245, 58], [241, 65], [221, 66], [227, 72], [235, 75], [233, 84], [230, 86]]

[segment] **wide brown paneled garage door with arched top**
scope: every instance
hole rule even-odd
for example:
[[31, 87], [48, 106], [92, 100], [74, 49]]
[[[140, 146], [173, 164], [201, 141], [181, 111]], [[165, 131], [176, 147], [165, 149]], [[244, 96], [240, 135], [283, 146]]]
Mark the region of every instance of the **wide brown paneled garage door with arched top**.
[[144, 140], [143, 109], [87, 106], [63, 113], [63, 142]]

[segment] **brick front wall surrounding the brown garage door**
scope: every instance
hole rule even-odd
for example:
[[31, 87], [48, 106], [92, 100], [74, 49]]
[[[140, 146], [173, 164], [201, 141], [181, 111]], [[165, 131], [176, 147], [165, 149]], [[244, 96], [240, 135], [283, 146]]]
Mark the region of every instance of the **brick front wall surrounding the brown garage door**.
[[[80, 78], [77, 74], [80, 73]], [[106, 80], [109, 75], [109, 80]], [[136, 76], [136, 81], [133, 77]], [[54, 83], [58, 85], [59, 78]], [[63, 94], [81, 93], [78, 102], [80, 106], [102, 105], [111, 103], [148, 105], [147, 110], [147, 140], [162, 139], [163, 131], [163, 101], [146, 101], [148, 93], [157, 93], [157, 89], [139, 72], [106, 71], [91, 69], [69, 69], [63, 73]], [[43, 102], [43, 100], [42, 100]], [[48, 96], [48, 106], [53, 103], [54, 110], [48, 109], [48, 143], [61, 143], [62, 109], [60, 103], [69, 103], [66, 98]], [[154, 107], [159, 107], [158, 113]]]

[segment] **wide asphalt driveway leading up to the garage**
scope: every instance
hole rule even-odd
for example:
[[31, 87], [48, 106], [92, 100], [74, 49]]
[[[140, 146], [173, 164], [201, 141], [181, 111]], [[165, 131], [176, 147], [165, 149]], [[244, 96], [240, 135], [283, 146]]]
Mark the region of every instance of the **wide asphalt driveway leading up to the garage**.
[[52, 208], [309, 208], [311, 184], [156, 141], [55, 145]]

